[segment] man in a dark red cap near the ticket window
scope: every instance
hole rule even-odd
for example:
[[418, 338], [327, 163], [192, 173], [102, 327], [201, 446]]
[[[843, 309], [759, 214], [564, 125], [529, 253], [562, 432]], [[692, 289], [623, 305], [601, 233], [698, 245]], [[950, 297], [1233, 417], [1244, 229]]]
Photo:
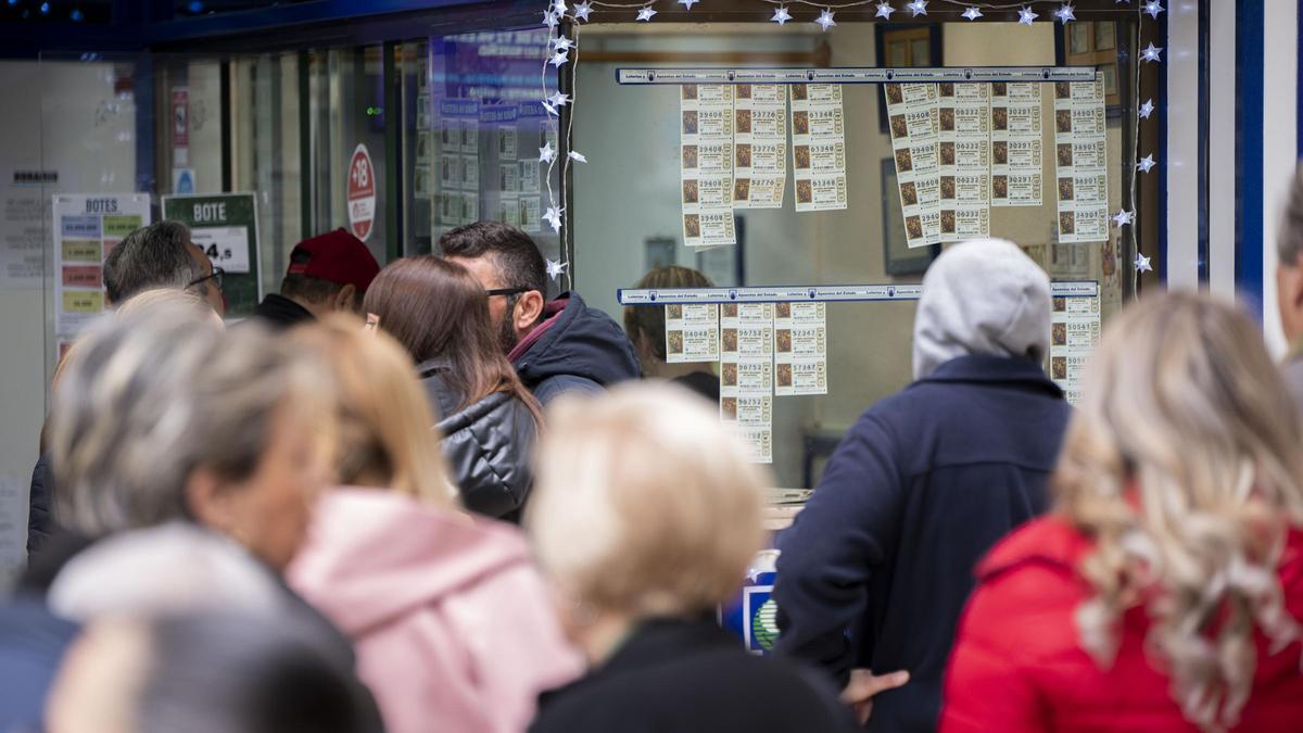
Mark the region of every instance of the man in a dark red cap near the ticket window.
[[357, 313], [379, 271], [362, 240], [345, 230], [305, 239], [289, 253], [280, 295], [265, 297], [253, 316], [272, 327], [288, 329], [332, 310]]

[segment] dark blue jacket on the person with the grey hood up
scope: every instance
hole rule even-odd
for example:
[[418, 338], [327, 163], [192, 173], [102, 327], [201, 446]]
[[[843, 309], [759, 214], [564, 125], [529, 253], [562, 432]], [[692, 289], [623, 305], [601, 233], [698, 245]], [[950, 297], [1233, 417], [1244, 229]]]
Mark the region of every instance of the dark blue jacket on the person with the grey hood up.
[[844, 683], [906, 669], [870, 730], [933, 730], [973, 567], [1049, 506], [1071, 408], [1036, 364], [964, 356], [877, 403], [778, 539], [779, 652]]

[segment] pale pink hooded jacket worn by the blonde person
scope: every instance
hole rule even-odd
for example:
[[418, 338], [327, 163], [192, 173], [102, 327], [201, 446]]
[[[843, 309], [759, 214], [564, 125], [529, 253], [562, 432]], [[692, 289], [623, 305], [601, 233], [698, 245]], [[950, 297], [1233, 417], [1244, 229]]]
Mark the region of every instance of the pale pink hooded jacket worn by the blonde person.
[[519, 733], [582, 672], [507, 524], [336, 489], [288, 578], [353, 639], [390, 733]]

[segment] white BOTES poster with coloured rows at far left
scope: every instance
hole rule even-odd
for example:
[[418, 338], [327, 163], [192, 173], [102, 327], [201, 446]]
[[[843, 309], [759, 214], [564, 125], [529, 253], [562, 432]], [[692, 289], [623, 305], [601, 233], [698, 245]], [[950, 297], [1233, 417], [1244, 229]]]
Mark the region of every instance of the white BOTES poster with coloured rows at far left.
[[150, 223], [149, 194], [59, 194], [51, 206], [55, 335], [72, 338], [106, 308], [103, 266], [126, 235]]

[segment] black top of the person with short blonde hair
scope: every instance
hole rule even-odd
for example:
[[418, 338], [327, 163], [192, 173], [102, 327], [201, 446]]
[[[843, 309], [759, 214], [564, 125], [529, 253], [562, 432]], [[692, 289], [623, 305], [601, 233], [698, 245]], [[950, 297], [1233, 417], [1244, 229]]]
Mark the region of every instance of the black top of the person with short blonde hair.
[[602, 666], [539, 699], [530, 733], [853, 730], [822, 680], [752, 656], [709, 620], [644, 623]]

